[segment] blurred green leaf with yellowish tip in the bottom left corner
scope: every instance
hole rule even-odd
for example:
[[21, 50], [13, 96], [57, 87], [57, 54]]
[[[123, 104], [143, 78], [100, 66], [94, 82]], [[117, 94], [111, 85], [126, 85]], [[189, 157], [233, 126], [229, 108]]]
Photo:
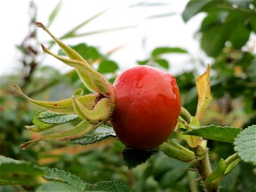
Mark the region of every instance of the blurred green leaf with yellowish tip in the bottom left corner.
[[45, 182], [44, 168], [31, 162], [18, 161], [9, 157], [0, 156], [0, 185], [19, 184], [37, 186]]

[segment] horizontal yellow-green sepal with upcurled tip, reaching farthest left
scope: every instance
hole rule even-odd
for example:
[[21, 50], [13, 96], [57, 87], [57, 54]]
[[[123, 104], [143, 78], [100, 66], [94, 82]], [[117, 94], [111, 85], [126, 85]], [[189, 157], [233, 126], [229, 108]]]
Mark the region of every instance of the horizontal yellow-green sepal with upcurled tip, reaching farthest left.
[[[41, 100], [33, 100], [30, 99], [27, 95], [25, 95], [17, 86], [17, 84], [11, 84], [11, 87], [20, 93], [26, 100], [32, 102], [36, 106], [47, 109], [49, 111], [57, 112], [57, 113], [74, 113], [73, 102], [72, 99], [64, 99], [58, 101], [41, 101]], [[77, 100], [83, 104], [84, 108], [92, 109], [95, 106], [95, 99], [98, 97], [98, 94], [90, 94], [83, 95], [81, 97], [77, 97]]]

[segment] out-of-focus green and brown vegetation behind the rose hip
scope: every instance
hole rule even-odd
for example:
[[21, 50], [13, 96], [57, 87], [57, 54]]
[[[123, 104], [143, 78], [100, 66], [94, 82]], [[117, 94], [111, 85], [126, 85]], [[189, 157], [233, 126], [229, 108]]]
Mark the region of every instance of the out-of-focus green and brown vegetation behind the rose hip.
[[[156, 3], [156, 4], [154, 4]], [[54, 21], [60, 3], [52, 7], [49, 23]], [[136, 6], [159, 6], [156, 1], [147, 4], [138, 1]], [[161, 6], [164, 6], [162, 4]], [[189, 1], [182, 19], [189, 22], [195, 15], [204, 13], [204, 19], [198, 25], [195, 40], [200, 43], [202, 54], [211, 58], [211, 93], [213, 100], [203, 125], [230, 125], [232, 127], [248, 127], [256, 124], [256, 60], [255, 60], [255, 1]], [[20, 71], [15, 74], [1, 74], [0, 98], [0, 152], [1, 155], [13, 159], [31, 161], [40, 166], [59, 168], [81, 177], [82, 180], [95, 183], [102, 180], [122, 180], [132, 191], [202, 191], [195, 180], [196, 172], [189, 172], [189, 164], [180, 163], [170, 159], [162, 152], [154, 154], [147, 163], [129, 170], [122, 161], [124, 145], [113, 138], [100, 141], [92, 145], [75, 145], [68, 142], [41, 141], [28, 150], [20, 150], [19, 145], [31, 138], [38, 138], [41, 133], [30, 132], [24, 125], [31, 125], [33, 115], [40, 111], [17, 93], [10, 89], [11, 83], [19, 84], [24, 93], [37, 100], [60, 100], [70, 97], [74, 90], [84, 88], [74, 70], [60, 72], [60, 70], [43, 66], [45, 54], [40, 51], [40, 42], [37, 28], [33, 25], [36, 21], [36, 2], [29, 5], [30, 20], [28, 35], [20, 40], [17, 51], [20, 52]], [[99, 15], [99, 17], [104, 17]], [[154, 14], [153, 14], [154, 15]], [[155, 15], [154, 19], [164, 22], [172, 15]], [[150, 19], [150, 18], [149, 18]], [[90, 22], [93, 22], [91, 19]], [[84, 23], [86, 26], [88, 23]], [[54, 23], [52, 24], [54, 25]], [[26, 26], [24, 26], [26, 28]], [[63, 40], [76, 37], [76, 28], [63, 27]], [[120, 29], [111, 29], [118, 34]], [[129, 30], [124, 28], [124, 30]], [[104, 32], [104, 31], [101, 31]], [[112, 32], [109, 32], [112, 33]], [[87, 34], [93, 35], [93, 34]], [[142, 43], [142, 42], [141, 42]], [[45, 42], [52, 47], [52, 42]], [[112, 60], [122, 47], [109, 51], [102, 51], [86, 42], [70, 44], [83, 58], [95, 69], [104, 74], [110, 81], [115, 81], [125, 65]], [[59, 51], [59, 54], [63, 52]], [[183, 63], [184, 70], [175, 73], [177, 84], [182, 95], [182, 106], [195, 114], [197, 104], [196, 76], [204, 70], [208, 63], [191, 55], [183, 47], [159, 46], [148, 51], [147, 58], [134, 58], [136, 65], [151, 65], [172, 71], [175, 63], [170, 62], [173, 55], [189, 57], [188, 63]], [[133, 57], [129, 52], [127, 58]], [[125, 60], [125, 58], [124, 58]], [[134, 63], [135, 65], [135, 63]], [[70, 124], [54, 128], [54, 132], [68, 129]], [[52, 131], [46, 131], [49, 133]], [[234, 153], [231, 143], [209, 141], [210, 159], [212, 168], [220, 158], [225, 159]], [[252, 166], [239, 163], [221, 183], [221, 191], [256, 191], [255, 175]], [[1, 186], [3, 191], [32, 190], [28, 186]]]

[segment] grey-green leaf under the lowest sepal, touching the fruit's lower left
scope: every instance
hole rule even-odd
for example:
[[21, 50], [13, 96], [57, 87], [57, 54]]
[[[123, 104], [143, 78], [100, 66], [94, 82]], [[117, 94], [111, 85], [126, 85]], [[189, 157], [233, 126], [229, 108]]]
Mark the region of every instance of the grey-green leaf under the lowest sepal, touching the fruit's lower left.
[[114, 129], [106, 125], [100, 125], [100, 127], [93, 130], [91, 133], [86, 134], [86, 136], [83, 136], [82, 138], [77, 138], [71, 141], [73, 143], [77, 143], [80, 145], [88, 145], [88, 144], [92, 144], [92, 143], [96, 143], [98, 141], [104, 140], [109, 137], [112, 137], [112, 138], [116, 137]]

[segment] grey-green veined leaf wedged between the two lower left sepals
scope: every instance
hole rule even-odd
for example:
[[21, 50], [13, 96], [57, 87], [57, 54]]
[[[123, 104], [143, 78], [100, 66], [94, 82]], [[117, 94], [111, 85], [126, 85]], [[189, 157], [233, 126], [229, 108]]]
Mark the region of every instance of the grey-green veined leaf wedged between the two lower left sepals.
[[[78, 118], [76, 114], [54, 113], [51, 111], [40, 111], [35, 115], [36, 120], [45, 124], [64, 124]], [[35, 124], [35, 122], [33, 122]]]

